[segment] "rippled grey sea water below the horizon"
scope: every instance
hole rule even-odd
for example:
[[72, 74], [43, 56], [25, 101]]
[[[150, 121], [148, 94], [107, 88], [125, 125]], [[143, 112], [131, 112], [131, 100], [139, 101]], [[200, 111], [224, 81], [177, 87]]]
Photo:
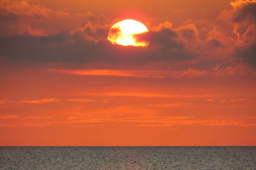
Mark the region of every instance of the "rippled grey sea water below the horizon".
[[256, 169], [256, 147], [0, 147], [0, 169]]

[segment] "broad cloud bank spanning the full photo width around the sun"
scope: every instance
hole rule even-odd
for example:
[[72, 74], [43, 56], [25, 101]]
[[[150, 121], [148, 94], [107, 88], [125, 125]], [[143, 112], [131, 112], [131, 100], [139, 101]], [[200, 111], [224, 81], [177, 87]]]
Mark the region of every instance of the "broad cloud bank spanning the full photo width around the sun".
[[[114, 76], [126, 76], [130, 73], [126, 71], [138, 70], [145, 65], [154, 65], [156, 70], [162, 71], [167, 67], [180, 69], [168, 73], [170, 77], [228, 75], [243, 62], [244, 68], [255, 66], [255, 20], [253, 10], [244, 10], [254, 9], [254, 4], [255, 1], [232, 3], [232, 10], [222, 12], [216, 23], [212, 22], [211, 28], [205, 26], [207, 31], [201, 31], [204, 26], [196, 24], [199, 21], [189, 21], [179, 27], [166, 21], [148, 27], [148, 33], [136, 36], [138, 40], [149, 43], [143, 48], [122, 47], [108, 42], [108, 31], [113, 23], [101, 15], [52, 10], [27, 1], [9, 1], [1, 4], [0, 17], [4, 23], [0, 28], [0, 61], [20, 65], [59, 63], [72, 65], [72, 68], [100, 63], [98, 70], [102, 70], [102, 74], [109, 72], [100, 68], [106, 65], [125, 70], [113, 69]], [[243, 22], [234, 19], [240, 15], [243, 15]], [[226, 63], [225, 68], [214, 70], [221, 63]], [[234, 75], [237, 74], [234, 71]], [[132, 75], [158, 77], [143, 72], [132, 72]]]

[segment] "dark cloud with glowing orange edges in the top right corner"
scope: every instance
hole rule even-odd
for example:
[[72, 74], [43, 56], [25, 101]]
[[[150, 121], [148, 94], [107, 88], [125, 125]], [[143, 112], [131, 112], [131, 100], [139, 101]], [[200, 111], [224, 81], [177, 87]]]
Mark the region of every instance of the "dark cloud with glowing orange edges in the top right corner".
[[233, 9], [221, 13], [223, 20], [232, 20], [236, 34], [234, 55], [244, 63], [256, 66], [256, 1], [239, 0], [231, 3]]

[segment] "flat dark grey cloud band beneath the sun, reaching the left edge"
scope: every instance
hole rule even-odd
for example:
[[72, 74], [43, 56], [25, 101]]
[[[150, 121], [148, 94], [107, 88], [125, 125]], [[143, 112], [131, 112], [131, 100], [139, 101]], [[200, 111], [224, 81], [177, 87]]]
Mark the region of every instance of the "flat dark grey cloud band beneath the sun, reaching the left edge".
[[[84, 32], [83, 32], [84, 34]], [[147, 63], [172, 59], [188, 59], [182, 45], [175, 50], [159, 50], [158, 46], [123, 47], [107, 40], [88, 41], [80, 36], [5, 36], [0, 37], [1, 62], [38, 63]], [[92, 38], [94, 40], [94, 38]], [[169, 46], [171, 47], [171, 45]], [[179, 48], [177, 48], [179, 47]]]

